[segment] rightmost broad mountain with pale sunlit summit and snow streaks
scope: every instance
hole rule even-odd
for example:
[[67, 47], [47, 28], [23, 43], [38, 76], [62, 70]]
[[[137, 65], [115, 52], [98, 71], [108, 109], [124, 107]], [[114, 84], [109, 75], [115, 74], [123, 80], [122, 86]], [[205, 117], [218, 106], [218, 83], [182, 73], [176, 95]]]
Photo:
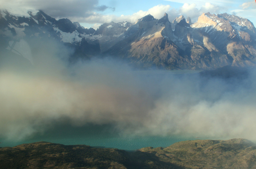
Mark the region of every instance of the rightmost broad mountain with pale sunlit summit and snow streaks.
[[234, 66], [255, 65], [256, 29], [249, 20], [229, 14], [207, 13], [201, 15], [198, 22], [191, 27], [207, 35], [210, 41], [208, 40], [205, 46], [208, 49], [214, 46], [226, 55], [225, 58], [222, 57], [226, 63], [222, 63]]

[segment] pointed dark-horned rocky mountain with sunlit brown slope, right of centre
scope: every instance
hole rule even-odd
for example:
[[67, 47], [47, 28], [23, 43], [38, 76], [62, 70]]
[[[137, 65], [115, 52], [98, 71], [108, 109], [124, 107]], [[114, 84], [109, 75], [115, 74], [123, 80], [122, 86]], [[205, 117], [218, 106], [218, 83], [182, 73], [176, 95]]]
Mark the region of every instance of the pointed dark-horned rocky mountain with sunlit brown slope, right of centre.
[[[187, 27], [178, 27], [181, 27], [179, 31], [186, 32]], [[129, 58], [132, 63], [145, 68], [157, 66], [167, 69], [191, 69], [194, 66], [190, 65], [191, 59], [183, 55], [183, 51], [173, 39], [175, 34], [168, 15], [165, 14], [159, 21], [138, 21], [127, 30], [125, 38], [120, 39], [120, 43], [106, 53]]]

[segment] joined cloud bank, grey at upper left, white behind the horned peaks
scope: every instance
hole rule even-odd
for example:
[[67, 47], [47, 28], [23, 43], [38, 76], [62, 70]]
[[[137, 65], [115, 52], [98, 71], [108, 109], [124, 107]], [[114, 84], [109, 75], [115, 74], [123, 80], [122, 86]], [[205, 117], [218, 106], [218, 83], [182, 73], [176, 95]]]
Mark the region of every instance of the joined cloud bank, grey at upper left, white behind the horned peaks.
[[107, 9], [115, 11], [115, 8], [106, 5], [99, 6], [98, 4], [98, 0], [64, 0], [61, 2], [59, 0], [0, 0], [1, 8], [6, 8], [13, 14], [21, 13], [21, 9], [24, 9], [23, 13], [26, 13], [27, 10], [42, 10], [56, 19], [69, 18], [71, 21], [89, 24], [103, 24], [110, 23], [111, 21], [135, 23], [138, 19], [148, 14], [160, 19], [165, 12], [169, 14], [170, 21], [180, 15], [190, 17], [196, 21], [197, 17], [203, 12], [218, 13], [222, 9], [220, 6], [209, 2], [199, 7], [196, 3], [191, 2], [191, 4], [188, 4], [184, 2], [184, 5], [177, 9], [172, 8], [170, 5], [160, 4], [148, 9], [148, 11], [140, 10], [132, 15], [117, 16], [101, 14], [102, 11]]

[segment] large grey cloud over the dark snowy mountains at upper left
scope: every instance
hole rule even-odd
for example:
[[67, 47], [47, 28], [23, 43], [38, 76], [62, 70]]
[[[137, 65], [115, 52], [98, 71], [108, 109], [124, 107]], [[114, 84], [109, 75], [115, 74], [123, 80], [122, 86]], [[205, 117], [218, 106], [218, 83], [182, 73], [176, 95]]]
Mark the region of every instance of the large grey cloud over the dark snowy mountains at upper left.
[[[111, 8], [98, 6], [98, 0], [0, 0], [3, 9], [37, 9], [54, 18], [88, 17], [95, 11]], [[113, 10], [113, 8], [111, 8]]]

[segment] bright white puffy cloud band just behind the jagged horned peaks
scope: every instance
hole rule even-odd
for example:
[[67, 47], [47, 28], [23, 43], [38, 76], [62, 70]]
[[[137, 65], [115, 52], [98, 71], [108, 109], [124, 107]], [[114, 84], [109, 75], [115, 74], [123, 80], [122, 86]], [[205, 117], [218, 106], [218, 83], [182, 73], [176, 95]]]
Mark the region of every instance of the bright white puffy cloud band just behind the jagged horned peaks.
[[[197, 18], [204, 13], [210, 12], [218, 14], [221, 9], [223, 9], [220, 6], [213, 5], [211, 3], [205, 3], [201, 8], [198, 8], [195, 3], [188, 4], [184, 3], [184, 5], [179, 8], [175, 9], [172, 8], [170, 5], [157, 5], [153, 8], [148, 9], [148, 11], [138, 11], [132, 15], [102, 15], [97, 12], [94, 12], [89, 17], [74, 17], [70, 18], [73, 21], [78, 21], [81, 23], [91, 23], [91, 24], [103, 24], [103, 23], [110, 23], [111, 21], [114, 22], [123, 22], [123, 21], [129, 21], [131, 23], [135, 23], [138, 19], [151, 14], [154, 18], [160, 19], [163, 17], [164, 13], [166, 12], [169, 16], [169, 21], [173, 21], [176, 17], [179, 17], [180, 15], [184, 15], [185, 18], [190, 17], [193, 22], [197, 21]], [[98, 26], [93, 26], [97, 28]]]

